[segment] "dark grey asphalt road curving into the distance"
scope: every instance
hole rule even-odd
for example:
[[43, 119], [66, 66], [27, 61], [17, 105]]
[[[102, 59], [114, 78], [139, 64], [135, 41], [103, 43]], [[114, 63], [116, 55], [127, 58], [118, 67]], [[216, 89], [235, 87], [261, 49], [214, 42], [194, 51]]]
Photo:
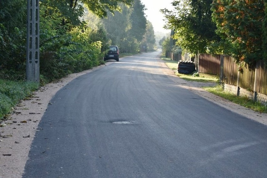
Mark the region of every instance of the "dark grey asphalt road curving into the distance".
[[113, 61], [57, 92], [23, 177], [267, 177], [267, 127], [179, 87], [158, 54]]

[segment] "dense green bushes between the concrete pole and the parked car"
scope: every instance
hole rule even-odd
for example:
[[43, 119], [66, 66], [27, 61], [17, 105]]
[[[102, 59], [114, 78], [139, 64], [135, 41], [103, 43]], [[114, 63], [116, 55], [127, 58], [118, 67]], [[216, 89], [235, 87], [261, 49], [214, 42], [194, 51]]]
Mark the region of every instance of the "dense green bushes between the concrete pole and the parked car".
[[46, 32], [42, 34], [40, 74], [49, 81], [103, 64], [102, 43], [91, 42], [90, 29], [73, 28], [71, 32], [55, 36]]

